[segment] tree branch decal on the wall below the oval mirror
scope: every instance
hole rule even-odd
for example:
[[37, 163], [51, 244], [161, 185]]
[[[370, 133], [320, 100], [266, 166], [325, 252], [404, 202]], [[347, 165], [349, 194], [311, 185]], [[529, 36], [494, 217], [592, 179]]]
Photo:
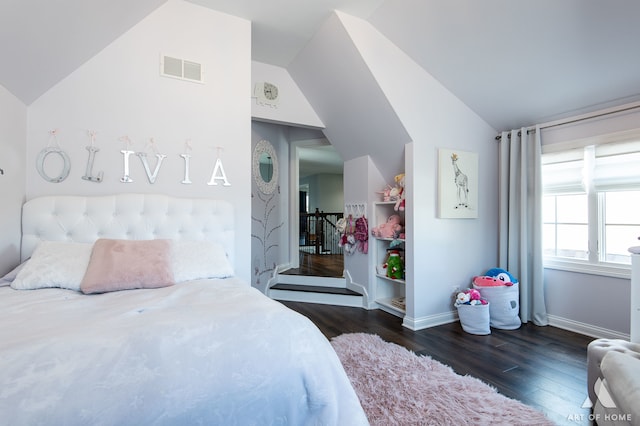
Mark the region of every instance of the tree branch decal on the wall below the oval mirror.
[[[277, 195], [278, 192], [272, 194], [262, 194], [257, 191], [257, 196], [251, 194], [253, 206], [251, 211], [256, 215], [262, 214], [262, 217], [251, 216], [252, 233], [251, 238], [259, 245], [257, 250], [252, 250], [253, 258], [253, 286], [261, 288], [269, 281], [269, 277], [273, 274], [277, 267], [277, 249], [279, 247], [276, 231], [279, 230], [284, 222], [272, 224], [279, 218], [277, 211]], [[265, 276], [266, 275], [266, 276]]]

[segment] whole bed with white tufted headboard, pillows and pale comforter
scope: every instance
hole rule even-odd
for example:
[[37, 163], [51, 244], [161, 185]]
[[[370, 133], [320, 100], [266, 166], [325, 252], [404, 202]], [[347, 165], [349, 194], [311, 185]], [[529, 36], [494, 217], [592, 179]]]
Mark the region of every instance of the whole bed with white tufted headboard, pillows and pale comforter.
[[229, 203], [52, 196], [22, 220], [25, 261], [0, 282], [4, 421], [367, 424], [317, 327], [233, 276]]

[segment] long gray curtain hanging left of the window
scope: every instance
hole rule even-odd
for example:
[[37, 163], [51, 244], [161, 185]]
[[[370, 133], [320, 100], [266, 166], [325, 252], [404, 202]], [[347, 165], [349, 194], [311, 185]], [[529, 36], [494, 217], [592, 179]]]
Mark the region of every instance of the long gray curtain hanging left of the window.
[[502, 132], [499, 265], [520, 285], [520, 319], [548, 325], [542, 267], [540, 129]]

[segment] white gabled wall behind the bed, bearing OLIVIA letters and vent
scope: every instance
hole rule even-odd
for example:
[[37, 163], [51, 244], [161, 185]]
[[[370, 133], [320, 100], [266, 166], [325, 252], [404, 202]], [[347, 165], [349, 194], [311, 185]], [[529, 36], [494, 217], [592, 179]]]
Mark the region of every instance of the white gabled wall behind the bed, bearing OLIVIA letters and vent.
[[[79, 35], [81, 36], [81, 35]], [[251, 177], [251, 28], [250, 22], [181, 0], [169, 0], [111, 45], [87, 61], [29, 107], [26, 194], [166, 193], [219, 198], [236, 208], [236, 253], [250, 250]], [[232, 41], [232, 42], [231, 42]], [[203, 64], [204, 84], [161, 77], [160, 55]], [[71, 160], [61, 183], [42, 179], [35, 159], [59, 129], [58, 141]], [[89, 145], [87, 131], [97, 132], [94, 174], [101, 183], [82, 179]], [[146, 151], [153, 171], [151, 138], [167, 158], [154, 184], [140, 160], [132, 156], [133, 183], [122, 183], [127, 136], [133, 151]], [[185, 141], [192, 146], [190, 179], [185, 173]], [[220, 147], [220, 149], [218, 149]], [[219, 157], [218, 157], [219, 156]], [[207, 185], [220, 158], [231, 186]], [[55, 161], [47, 166], [53, 168]], [[236, 256], [238, 275], [249, 281], [250, 259]]]

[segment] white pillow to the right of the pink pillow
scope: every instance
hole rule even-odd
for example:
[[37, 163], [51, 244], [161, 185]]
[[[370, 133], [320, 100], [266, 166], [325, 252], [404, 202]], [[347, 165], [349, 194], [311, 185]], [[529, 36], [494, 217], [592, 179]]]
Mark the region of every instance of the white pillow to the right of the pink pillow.
[[227, 253], [212, 241], [173, 241], [170, 262], [176, 283], [233, 276]]

